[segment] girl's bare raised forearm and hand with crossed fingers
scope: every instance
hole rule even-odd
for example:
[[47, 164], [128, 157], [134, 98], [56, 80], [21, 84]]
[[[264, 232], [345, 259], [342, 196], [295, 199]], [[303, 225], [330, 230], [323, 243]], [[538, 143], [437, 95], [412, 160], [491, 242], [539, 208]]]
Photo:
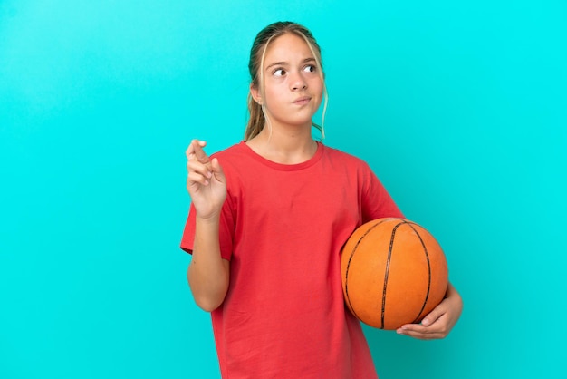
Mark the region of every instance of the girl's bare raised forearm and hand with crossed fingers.
[[218, 230], [226, 199], [226, 178], [218, 160], [209, 160], [205, 141], [187, 148], [187, 191], [197, 212], [193, 258], [187, 280], [197, 306], [210, 312], [220, 306], [228, 290], [229, 263], [220, 253]]

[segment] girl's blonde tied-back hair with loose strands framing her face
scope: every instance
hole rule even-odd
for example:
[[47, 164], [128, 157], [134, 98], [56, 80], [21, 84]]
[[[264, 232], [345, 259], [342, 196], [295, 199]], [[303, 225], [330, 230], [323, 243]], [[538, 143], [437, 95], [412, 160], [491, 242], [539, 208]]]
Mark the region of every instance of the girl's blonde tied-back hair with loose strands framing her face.
[[[248, 71], [250, 72], [250, 79], [253, 86], [258, 88], [264, 97], [264, 57], [265, 52], [268, 48], [268, 44], [275, 38], [283, 34], [295, 34], [302, 37], [305, 43], [309, 46], [313, 56], [315, 57], [315, 62], [318, 66], [318, 73], [321, 76], [324, 94], [324, 105], [322, 111], [322, 124], [317, 125], [312, 122], [312, 126], [321, 131], [322, 139], [325, 136], [324, 133], [324, 120], [325, 112], [327, 111], [327, 87], [325, 85], [325, 76], [322, 70], [322, 59], [321, 59], [321, 47], [315, 41], [315, 38], [311, 32], [301, 24], [292, 23], [289, 21], [277, 22], [266, 26], [260, 33], [256, 35], [254, 44], [252, 44], [252, 49], [250, 50], [250, 61], [248, 62]], [[253, 139], [256, 135], [264, 129], [266, 123], [269, 125], [269, 120], [265, 116], [264, 102], [258, 104], [255, 102], [252, 94], [248, 93], [248, 112], [250, 112], [250, 118], [248, 119], [248, 124], [245, 130], [245, 141]]]

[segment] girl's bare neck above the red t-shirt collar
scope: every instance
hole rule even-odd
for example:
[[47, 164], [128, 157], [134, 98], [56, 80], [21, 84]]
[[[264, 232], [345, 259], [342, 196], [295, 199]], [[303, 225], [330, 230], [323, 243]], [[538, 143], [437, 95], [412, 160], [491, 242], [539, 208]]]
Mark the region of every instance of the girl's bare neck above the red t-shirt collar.
[[317, 151], [317, 142], [313, 141], [311, 129], [308, 131], [287, 132], [265, 127], [250, 141], [250, 149], [266, 160], [282, 164], [298, 164], [312, 159]]

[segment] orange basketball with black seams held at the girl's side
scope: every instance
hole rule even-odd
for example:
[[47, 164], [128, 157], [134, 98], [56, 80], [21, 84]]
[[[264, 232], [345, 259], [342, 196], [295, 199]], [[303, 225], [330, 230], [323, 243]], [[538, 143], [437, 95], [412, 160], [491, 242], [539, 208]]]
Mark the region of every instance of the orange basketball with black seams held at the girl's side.
[[369, 326], [418, 323], [445, 297], [447, 259], [437, 240], [408, 219], [375, 219], [357, 228], [341, 253], [345, 303]]

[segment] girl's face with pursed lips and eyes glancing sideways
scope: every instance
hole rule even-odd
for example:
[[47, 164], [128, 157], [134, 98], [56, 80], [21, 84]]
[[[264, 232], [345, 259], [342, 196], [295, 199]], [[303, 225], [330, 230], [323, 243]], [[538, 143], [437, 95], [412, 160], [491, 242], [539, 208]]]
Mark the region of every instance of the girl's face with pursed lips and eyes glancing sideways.
[[[263, 85], [260, 83], [260, 85]], [[272, 127], [307, 127], [322, 101], [322, 79], [309, 46], [302, 37], [283, 34], [264, 57], [264, 93], [251, 85], [256, 102], [264, 104]]]

